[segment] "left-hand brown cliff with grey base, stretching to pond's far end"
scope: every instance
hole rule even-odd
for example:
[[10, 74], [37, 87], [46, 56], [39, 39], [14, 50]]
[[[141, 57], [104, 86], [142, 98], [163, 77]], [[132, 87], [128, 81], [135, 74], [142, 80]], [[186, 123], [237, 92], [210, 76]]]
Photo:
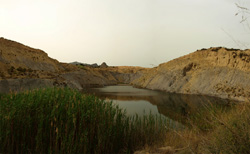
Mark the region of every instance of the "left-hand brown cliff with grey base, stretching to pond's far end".
[[0, 93], [40, 87], [86, 87], [130, 83], [139, 67], [80, 67], [60, 63], [42, 50], [0, 38]]

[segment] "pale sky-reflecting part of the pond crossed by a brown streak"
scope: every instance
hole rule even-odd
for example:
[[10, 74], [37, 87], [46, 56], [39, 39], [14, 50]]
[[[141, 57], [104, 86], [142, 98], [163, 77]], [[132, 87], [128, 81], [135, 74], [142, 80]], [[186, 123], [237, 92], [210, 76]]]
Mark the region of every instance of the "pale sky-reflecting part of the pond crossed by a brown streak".
[[143, 115], [149, 112], [159, 114], [157, 106], [150, 103], [149, 100], [149, 98], [159, 95], [157, 91], [119, 85], [93, 88], [89, 92], [103, 99], [112, 100], [114, 104], [118, 104], [121, 108], [126, 109], [128, 115]]

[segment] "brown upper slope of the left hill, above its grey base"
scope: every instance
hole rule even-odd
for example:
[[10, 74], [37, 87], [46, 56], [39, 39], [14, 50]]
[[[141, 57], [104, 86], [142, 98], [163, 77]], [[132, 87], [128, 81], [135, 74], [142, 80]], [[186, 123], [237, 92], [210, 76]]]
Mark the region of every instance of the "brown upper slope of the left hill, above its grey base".
[[42, 50], [0, 38], [0, 78], [46, 78], [67, 71], [68, 67], [74, 69], [66, 65]]

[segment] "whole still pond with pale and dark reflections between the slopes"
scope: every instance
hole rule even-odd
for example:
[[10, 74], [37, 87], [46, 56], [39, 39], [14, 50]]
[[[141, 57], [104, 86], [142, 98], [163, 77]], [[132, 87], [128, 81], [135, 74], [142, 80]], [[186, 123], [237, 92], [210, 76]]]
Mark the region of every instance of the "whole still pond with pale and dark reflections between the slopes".
[[183, 95], [161, 91], [138, 89], [129, 85], [106, 86], [92, 88], [89, 93], [106, 100], [112, 100], [128, 115], [153, 114], [163, 115], [173, 121], [184, 124], [189, 117], [206, 110], [208, 106], [228, 108], [229, 100], [199, 95]]

